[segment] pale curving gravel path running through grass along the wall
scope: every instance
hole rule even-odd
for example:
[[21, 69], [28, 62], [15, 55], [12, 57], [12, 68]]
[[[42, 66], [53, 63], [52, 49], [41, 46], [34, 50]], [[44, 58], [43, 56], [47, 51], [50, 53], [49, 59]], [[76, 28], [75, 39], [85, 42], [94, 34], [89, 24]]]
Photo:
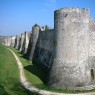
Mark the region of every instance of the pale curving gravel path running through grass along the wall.
[[12, 52], [12, 54], [14, 55], [14, 57], [17, 61], [17, 64], [19, 67], [19, 72], [20, 72], [20, 81], [21, 81], [22, 85], [29, 91], [38, 92], [39, 94], [42, 94], [42, 95], [95, 95], [95, 92], [79, 93], [79, 94], [56, 93], [56, 92], [50, 92], [50, 91], [46, 91], [46, 90], [42, 90], [42, 89], [34, 87], [32, 84], [30, 84], [27, 81], [25, 74], [24, 74], [23, 65], [22, 65], [21, 61], [19, 60], [19, 58], [17, 57], [17, 55], [11, 49], [9, 49], [9, 50]]

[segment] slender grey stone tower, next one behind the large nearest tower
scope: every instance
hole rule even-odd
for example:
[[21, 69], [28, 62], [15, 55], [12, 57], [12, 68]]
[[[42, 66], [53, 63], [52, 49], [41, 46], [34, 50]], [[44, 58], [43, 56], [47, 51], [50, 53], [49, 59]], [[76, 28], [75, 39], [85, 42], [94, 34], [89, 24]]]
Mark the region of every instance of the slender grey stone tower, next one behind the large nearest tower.
[[33, 26], [32, 27], [32, 37], [31, 37], [31, 42], [32, 42], [32, 48], [31, 48], [31, 53], [30, 53], [30, 58], [32, 60], [35, 47], [37, 45], [38, 37], [39, 37], [39, 31], [40, 27], [39, 26]]

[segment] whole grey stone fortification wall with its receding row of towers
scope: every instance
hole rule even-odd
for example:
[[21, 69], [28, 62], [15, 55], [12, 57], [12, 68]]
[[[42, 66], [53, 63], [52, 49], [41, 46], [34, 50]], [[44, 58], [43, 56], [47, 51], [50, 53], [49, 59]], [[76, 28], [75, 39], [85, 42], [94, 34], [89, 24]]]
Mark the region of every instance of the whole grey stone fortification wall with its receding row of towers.
[[[5, 39], [6, 46], [10, 46], [9, 39]], [[64, 89], [95, 83], [94, 44], [95, 21], [85, 8], [56, 10], [54, 30], [33, 26], [32, 33], [15, 38], [15, 48], [50, 70], [48, 85]]]

